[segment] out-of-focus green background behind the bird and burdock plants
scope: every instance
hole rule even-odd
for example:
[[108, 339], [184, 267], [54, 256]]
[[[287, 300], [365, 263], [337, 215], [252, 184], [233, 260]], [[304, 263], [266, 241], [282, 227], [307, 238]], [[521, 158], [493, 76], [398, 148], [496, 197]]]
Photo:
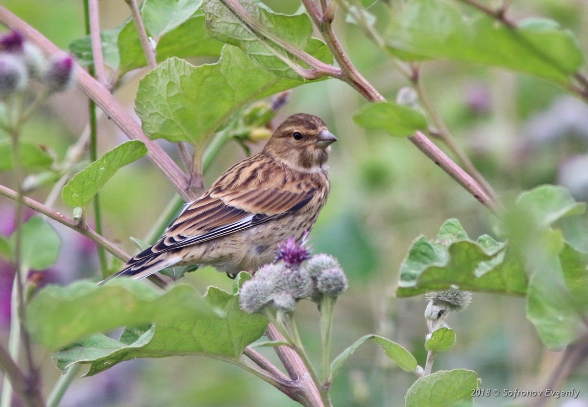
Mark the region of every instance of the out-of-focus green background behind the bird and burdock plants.
[[[276, 11], [295, 12], [293, 0], [266, 2]], [[385, 30], [389, 8], [376, 2], [376, 28]], [[489, 2], [493, 3], [493, 2]], [[81, 1], [3, 0], [15, 12], [61, 48], [83, 36]], [[113, 28], [128, 18], [126, 4], [101, 0], [102, 28]], [[586, 0], [515, 0], [512, 18], [545, 16], [569, 28], [588, 54]], [[390, 60], [356, 26], [338, 14], [334, 29], [360, 72], [387, 98], [407, 85]], [[193, 61], [202, 63], [202, 61]], [[124, 78], [115, 96], [133, 111], [133, 99], [146, 71]], [[475, 64], [430, 62], [421, 77], [433, 104], [477, 168], [506, 200], [523, 189], [543, 183], [562, 184], [576, 199], [588, 198], [588, 106], [563, 89], [500, 69]], [[213, 95], [211, 95], [213, 97]], [[350, 288], [336, 308], [333, 353], [342, 351], [366, 333], [399, 342], [424, 365], [426, 323], [424, 296], [395, 299], [398, 269], [410, 242], [418, 235], [436, 235], [447, 218], [458, 218], [471, 238], [493, 233], [493, 216], [452, 181], [406, 139], [383, 132], [366, 132], [352, 114], [366, 101], [343, 82], [330, 79], [293, 89], [288, 104], [275, 119], [278, 124], [296, 112], [322, 117], [338, 136], [330, 157], [332, 192], [320, 214], [311, 242], [316, 253], [336, 256], [350, 278]], [[54, 96], [26, 125], [24, 138], [41, 142], [62, 158], [87, 122], [86, 99], [77, 89]], [[99, 120], [99, 155], [125, 141], [108, 119]], [[165, 145], [165, 143], [162, 143]], [[256, 152], [262, 145], [252, 146]], [[175, 148], [168, 151], [175, 154]], [[234, 142], [225, 146], [205, 185], [245, 154]], [[0, 182], [11, 185], [9, 174]], [[39, 201], [48, 189], [35, 192]], [[101, 192], [105, 235], [126, 251], [135, 251], [129, 236], [148, 233], [173, 195], [173, 189], [148, 159], [116, 174]], [[0, 219], [9, 222], [13, 203], [0, 198]], [[61, 203], [57, 208], [71, 215]], [[75, 233], [58, 227], [64, 249], [52, 275], [66, 282], [98, 273], [91, 246]], [[202, 292], [209, 285], [230, 291], [232, 281], [206, 268], [186, 276]], [[5, 295], [3, 292], [2, 295]], [[313, 360], [320, 358], [318, 312], [308, 302], [296, 313], [303, 341]], [[480, 388], [537, 389], [562, 357], [540, 344], [525, 318], [524, 300], [476, 293], [466, 311], [452, 315], [449, 324], [457, 344], [437, 357], [434, 369], [466, 368], [482, 378]], [[2, 325], [2, 340], [8, 325]], [[38, 350], [42, 352], [41, 349]], [[275, 359], [272, 351], [263, 350]], [[45, 360], [48, 358], [45, 356]], [[273, 360], [272, 359], [272, 360]], [[318, 365], [318, 363], [317, 363]], [[59, 376], [54, 363], [44, 366], [44, 385]], [[563, 389], [580, 391], [588, 405], [588, 366], [580, 366]], [[363, 345], [335, 378], [335, 406], [402, 405], [415, 377], [395, 368], [381, 349]], [[520, 405], [530, 399], [478, 398], [476, 405]], [[566, 399], [553, 400], [563, 406]], [[62, 406], [294, 406], [285, 395], [259, 379], [226, 363], [206, 358], [148, 359], [125, 362], [91, 378], [76, 380]], [[570, 404], [571, 405], [571, 404]]]

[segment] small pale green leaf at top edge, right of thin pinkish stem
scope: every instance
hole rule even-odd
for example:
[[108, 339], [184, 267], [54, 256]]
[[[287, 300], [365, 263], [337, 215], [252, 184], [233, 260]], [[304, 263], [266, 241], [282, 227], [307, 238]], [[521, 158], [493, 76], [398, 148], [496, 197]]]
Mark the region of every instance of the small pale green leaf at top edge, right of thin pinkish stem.
[[149, 35], [157, 40], [186, 22], [201, 4], [202, 0], [145, 0], [141, 15]]

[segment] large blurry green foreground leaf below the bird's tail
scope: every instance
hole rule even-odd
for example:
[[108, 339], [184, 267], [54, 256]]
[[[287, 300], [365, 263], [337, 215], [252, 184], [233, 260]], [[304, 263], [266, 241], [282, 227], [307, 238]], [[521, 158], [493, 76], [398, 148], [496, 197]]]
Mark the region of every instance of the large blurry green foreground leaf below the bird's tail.
[[26, 315], [32, 339], [59, 349], [119, 326], [196, 320], [217, 313], [192, 286], [178, 284], [161, 293], [148, 282], [116, 278], [104, 285], [78, 281], [47, 286], [32, 299]]

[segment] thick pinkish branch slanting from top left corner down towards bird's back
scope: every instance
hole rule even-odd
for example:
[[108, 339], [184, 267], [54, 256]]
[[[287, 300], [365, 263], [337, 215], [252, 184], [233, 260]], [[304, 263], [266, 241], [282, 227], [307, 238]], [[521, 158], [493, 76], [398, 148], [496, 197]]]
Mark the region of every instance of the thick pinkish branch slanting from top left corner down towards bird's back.
[[[59, 48], [57, 48], [55, 44], [2, 6], [0, 6], [0, 23], [22, 32], [29, 41], [36, 46], [39, 46], [39, 48], [44, 49], [48, 54], [59, 52]], [[186, 190], [186, 187], [188, 186], [188, 177], [181, 171], [181, 169], [179, 169], [178, 165], [169, 158], [165, 151], [163, 151], [163, 149], [154, 141], [147, 138], [145, 134], [143, 134], [141, 126], [135, 122], [131, 115], [128, 114], [125, 108], [121, 106], [112, 94], [110, 94], [104, 86], [96, 82], [96, 80], [78, 64], [75, 64], [74, 74], [76, 76], [76, 81], [78, 82], [78, 87], [82, 92], [95, 101], [96, 105], [98, 105], [106, 115], [112, 119], [115, 125], [118, 126], [128, 138], [138, 139], [145, 143], [148, 148], [147, 155], [151, 158], [151, 161], [158, 166], [159, 170], [167, 179], [169, 179], [169, 182], [171, 182], [176, 191], [178, 191], [178, 194], [180, 194], [185, 201], [192, 201], [195, 196], [192, 196], [189, 191]]]

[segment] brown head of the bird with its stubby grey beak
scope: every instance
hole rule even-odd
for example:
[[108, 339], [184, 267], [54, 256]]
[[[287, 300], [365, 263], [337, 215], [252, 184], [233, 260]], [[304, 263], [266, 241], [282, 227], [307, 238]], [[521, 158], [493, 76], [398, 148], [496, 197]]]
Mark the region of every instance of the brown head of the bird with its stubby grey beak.
[[278, 126], [263, 152], [284, 164], [312, 170], [326, 163], [336, 141], [320, 118], [298, 113]]

